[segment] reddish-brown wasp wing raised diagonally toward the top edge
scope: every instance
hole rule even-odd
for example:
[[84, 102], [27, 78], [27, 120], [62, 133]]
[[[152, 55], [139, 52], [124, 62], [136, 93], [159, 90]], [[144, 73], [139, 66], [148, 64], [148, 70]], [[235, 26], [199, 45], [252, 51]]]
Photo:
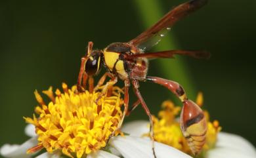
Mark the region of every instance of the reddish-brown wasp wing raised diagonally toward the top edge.
[[171, 27], [180, 19], [184, 18], [191, 12], [200, 9], [207, 3], [207, 0], [192, 0], [175, 7], [170, 10], [163, 18], [161, 18], [154, 26], [140, 33], [139, 36], [129, 41], [130, 44], [139, 47], [142, 50], [158, 44], [161, 38], [165, 36]]

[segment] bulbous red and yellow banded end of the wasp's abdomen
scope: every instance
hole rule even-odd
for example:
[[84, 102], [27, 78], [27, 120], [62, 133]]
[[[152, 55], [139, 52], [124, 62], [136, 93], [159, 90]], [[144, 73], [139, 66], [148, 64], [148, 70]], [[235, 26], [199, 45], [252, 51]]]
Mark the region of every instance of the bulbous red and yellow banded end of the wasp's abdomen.
[[183, 102], [181, 111], [181, 130], [188, 146], [197, 155], [205, 144], [207, 124], [202, 109], [191, 100]]

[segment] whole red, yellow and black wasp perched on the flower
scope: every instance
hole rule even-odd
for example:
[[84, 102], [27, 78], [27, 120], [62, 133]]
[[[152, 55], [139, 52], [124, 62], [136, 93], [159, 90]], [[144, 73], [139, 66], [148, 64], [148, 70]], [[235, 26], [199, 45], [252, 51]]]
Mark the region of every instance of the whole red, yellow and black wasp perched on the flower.
[[[110, 81], [106, 83], [102, 92], [107, 92], [108, 88], [117, 83], [117, 79], [124, 81], [124, 109], [123, 118], [129, 115], [139, 104], [150, 120], [150, 138], [153, 140], [154, 156], [154, 132], [152, 115], [146, 102], [139, 91], [139, 81], [151, 81], [169, 89], [177, 96], [183, 106], [181, 111], [181, 130], [188, 140], [188, 146], [196, 155], [202, 150], [205, 144], [205, 134], [207, 126], [202, 109], [196, 103], [189, 100], [185, 90], [179, 83], [160, 77], [148, 76], [148, 59], [151, 58], [173, 58], [175, 54], [192, 56], [194, 58], [209, 58], [209, 53], [198, 50], [165, 50], [160, 52], [148, 52], [152, 46], [156, 45], [165, 33], [171, 30], [171, 27], [179, 20], [200, 9], [207, 3], [207, 0], [192, 0], [170, 10], [154, 26], [140, 33], [127, 43], [112, 43], [103, 50], [93, 50], [93, 42], [88, 43], [88, 49], [85, 56], [81, 58], [81, 67], [77, 79], [77, 90], [83, 91], [89, 79], [89, 91], [98, 89], [103, 85], [106, 77]], [[107, 72], [102, 75], [96, 87], [93, 87], [93, 75], [98, 74], [100, 68], [104, 66]], [[138, 100], [129, 108], [129, 87], [132, 86]], [[121, 119], [121, 123], [123, 122]], [[121, 127], [119, 123], [119, 127]]]

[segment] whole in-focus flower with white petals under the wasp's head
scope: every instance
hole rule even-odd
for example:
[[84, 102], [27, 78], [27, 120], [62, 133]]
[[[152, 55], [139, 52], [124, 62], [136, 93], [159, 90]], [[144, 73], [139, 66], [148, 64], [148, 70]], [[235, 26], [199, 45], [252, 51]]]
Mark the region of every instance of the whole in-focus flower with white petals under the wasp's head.
[[[123, 115], [121, 106], [122, 90], [112, 87], [111, 92], [78, 92], [76, 87], [68, 89], [63, 83], [62, 89], [52, 87], [44, 90], [51, 102], [45, 104], [41, 95], [35, 90], [35, 98], [40, 106], [35, 108], [32, 118], [24, 117], [30, 123], [25, 132], [31, 136], [22, 145], [5, 144], [0, 148], [4, 157], [56, 158], [62, 154], [68, 157], [154, 157], [152, 142], [148, 138], [137, 136], [117, 136], [110, 139], [112, 132]], [[122, 134], [121, 134], [122, 135]], [[181, 151], [155, 143], [157, 157], [190, 157]], [[41, 149], [46, 152], [37, 153]], [[27, 154], [28, 153], [28, 154]], [[168, 155], [166, 155], [168, 154]]]

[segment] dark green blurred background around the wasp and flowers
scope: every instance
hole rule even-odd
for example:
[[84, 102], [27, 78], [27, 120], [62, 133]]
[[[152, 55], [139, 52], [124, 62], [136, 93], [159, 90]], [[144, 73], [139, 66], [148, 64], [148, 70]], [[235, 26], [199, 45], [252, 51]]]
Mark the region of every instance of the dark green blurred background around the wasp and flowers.
[[[62, 81], [75, 84], [88, 41], [98, 49], [129, 41], [182, 2], [1, 1], [0, 146], [27, 139], [22, 117], [32, 116], [35, 89], [61, 87]], [[211, 59], [152, 60], [148, 72], [181, 83], [192, 100], [202, 90], [203, 108], [211, 119], [218, 119], [223, 131], [240, 134], [254, 145], [255, 17], [255, 0], [209, 1], [176, 24], [153, 50], [208, 50]], [[152, 83], [141, 83], [140, 91], [155, 115], [163, 100], [174, 98]], [[134, 119], [148, 117], [139, 107], [126, 121]]]

